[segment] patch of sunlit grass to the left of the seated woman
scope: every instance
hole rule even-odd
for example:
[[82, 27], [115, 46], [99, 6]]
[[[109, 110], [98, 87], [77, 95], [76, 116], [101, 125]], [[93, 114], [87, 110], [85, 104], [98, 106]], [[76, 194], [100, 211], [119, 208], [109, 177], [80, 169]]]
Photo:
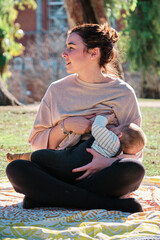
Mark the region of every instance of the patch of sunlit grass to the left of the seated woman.
[[31, 151], [28, 136], [36, 112], [36, 107], [0, 107], [0, 178], [5, 176], [7, 152]]

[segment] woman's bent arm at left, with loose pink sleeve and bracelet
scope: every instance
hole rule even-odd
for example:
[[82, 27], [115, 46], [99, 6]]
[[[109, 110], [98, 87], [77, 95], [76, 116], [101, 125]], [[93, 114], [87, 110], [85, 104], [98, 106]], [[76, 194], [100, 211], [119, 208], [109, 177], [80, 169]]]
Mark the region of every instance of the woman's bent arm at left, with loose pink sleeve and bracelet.
[[[56, 149], [59, 143], [66, 137], [66, 134], [63, 134], [61, 130], [60, 121], [57, 123], [57, 121], [60, 120], [60, 116], [56, 119], [56, 114], [54, 114], [49, 104], [43, 99], [28, 140], [34, 151], [47, 148]], [[64, 127], [66, 130], [78, 134], [86, 133], [90, 131], [92, 122], [89, 119], [92, 117], [93, 115], [68, 117], [64, 120]]]

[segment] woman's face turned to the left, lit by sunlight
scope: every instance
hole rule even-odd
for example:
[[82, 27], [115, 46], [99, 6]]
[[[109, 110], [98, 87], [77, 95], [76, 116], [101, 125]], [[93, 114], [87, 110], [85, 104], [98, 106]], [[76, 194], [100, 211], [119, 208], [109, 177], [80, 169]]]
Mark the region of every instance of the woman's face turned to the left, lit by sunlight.
[[91, 54], [85, 50], [82, 38], [76, 33], [71, 33], [66, 45], [62, 57], [65, 58], [67, 72], [80, 74], [86, 71], [88, 64], [91, 63]]

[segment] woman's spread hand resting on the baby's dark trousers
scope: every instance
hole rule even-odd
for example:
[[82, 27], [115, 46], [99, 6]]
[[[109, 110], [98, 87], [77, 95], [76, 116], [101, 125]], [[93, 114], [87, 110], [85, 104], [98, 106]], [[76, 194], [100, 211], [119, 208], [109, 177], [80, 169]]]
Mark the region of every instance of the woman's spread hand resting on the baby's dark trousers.
[[115, 162], [118, 159], [116, 157], [115, 158], [106, 158], [91, 148], [87, 148], [86, 151], [93, 155], [92, 162], [90, 162], [89, 164], [87, 164], [83, 167], [75, 168], [72, 170], [72, 172], [86, 171], [81, 177], [77, 178], [76, 180], [82, 180], [84, 178], [89, 178], [94, 173], [99, 172], [100, 170], [102, 170], [106, 167], [109, 167], [113, 162]]

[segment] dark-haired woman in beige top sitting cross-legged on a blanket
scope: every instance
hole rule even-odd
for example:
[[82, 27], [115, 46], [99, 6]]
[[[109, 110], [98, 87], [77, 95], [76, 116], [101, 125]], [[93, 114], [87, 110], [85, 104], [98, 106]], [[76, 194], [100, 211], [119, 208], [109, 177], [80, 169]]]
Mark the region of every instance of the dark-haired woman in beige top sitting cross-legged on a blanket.
[[[115, 124], [141, 123], [133, 89], [106, 74], [116, 60], [117, 41], [117, 32], [106, 25], [85, 24], [69, 31], [62, 56], [67, 72], [73, 74], [48, 88], [29, 138], [34, 150], [48, 150], [34, 152], [31, 161], [13, 161], [6, 169], [14, 189], [25, 195], [24, 208], [142, 211], [135, 199], [125, 198], [143, 179], [140, 161], [107, 159], [88, 149], [86, 154], [93, 159], [83, 162], [76, 154], [93, 142], [88, 135], [95, 115], [114, 112]], [[63, 150], [66, 148], [69, 150]], [[64, 156], [54, 159], [57, 150], [64, 151]], [[66, 172], [73, 176], [72, 181]]]

